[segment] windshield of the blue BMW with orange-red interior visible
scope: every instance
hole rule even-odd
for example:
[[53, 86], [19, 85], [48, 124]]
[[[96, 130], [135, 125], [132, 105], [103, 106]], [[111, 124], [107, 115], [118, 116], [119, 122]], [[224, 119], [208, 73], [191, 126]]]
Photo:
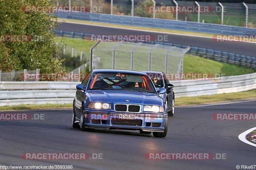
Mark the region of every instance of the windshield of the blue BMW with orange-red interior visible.
[[90, 78], [89, 89], [156, 93], [148, 76], [127, 73], [94, 73]]

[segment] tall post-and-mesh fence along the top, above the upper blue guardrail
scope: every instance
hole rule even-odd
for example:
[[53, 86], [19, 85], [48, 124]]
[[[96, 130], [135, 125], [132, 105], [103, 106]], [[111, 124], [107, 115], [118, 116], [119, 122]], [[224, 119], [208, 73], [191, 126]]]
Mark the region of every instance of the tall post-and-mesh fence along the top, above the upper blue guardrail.
[[[60, 2], [60, 4], [67, 4], [68, 1], [66, 0], [55, 0], [54, 3], [57, 4], [57, 2]], [[104, 2], [105, 6], [103, 6], [102, 12], [96, 12], [96, 13], [105, 13], [110, 14], [110, 0], [107, 0]], [[145, 3], [146, 6], [142, 5], [139, 6], [140, 2], [144, 2], [142, 0], [134, 0], [133, 1], [133, 12], [132, 12], [132, 1], [131, 0], [113, 0], [113, 12], [114, 15], [126, 15], [126, 16], [132, 16], [132, 13], [134, 16], [138, 17], [153, 17], [153, 13], [149, 13], [146, 10], [147, 4], [152, 4], [153, 2], [151, 0], [148, 0], [148, 3]], [[156, 6], [172, 6], [176, 7], [176, 4], [173, 0], [155, 0]], [[197, 4], [195, 1], [182, 1], [182, 0], [176, 0], [175, 1], [179, 7], [197, 7]], [[254, 27], [256, 28], [256, 4], [243, 4], [243, 3], [221, 3], [218, 2], [200, 2], [197, 1], [197, 3], [200, 6], [208, 6], [209, 12], [200, 11], [200, 22], [205, 23], [212, 23], [212, 24], [221, 24], [221, 5], [223, 6], [223, 24], [224, 25], [232, 25], [232, 26], [245, 26], [246, 23], [246, 6], [248, 7], [248, 27]], [[106, 4], [108, 4], [106, 6]], [[89, 1], [80, 1], [80, 0], [72, 0], [71, 5], [87, 5], [90, 6]], [[98, 1], [92, 0], [92, 6], [94, 5], [100, 5]], [[108, 10], [106, 10], [108, 9]], [[188, 8], [186, 8], [188, 9]], [[176, 12], [156, 12], [155, 13], [156, 18], [163, 18], [163, 19], [175, 19], [176, 18]], [[186, 21], [194, 21], [198, 22], [198, 13], [195, 11], [188, 12], [188, 11], [179, 11], [178, 12], [178, 20], [186, 20]]]

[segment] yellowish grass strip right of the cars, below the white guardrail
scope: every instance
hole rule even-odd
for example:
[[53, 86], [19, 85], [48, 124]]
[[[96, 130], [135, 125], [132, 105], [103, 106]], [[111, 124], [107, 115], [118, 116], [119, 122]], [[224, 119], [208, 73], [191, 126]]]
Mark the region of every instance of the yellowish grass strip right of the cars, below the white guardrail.
[[211, 103], [227, 100], [244, 100], [248, 98], [256, 100], [256, 89], [236, 93], [223, 93], [196, 97], [180, 97], [175, 99], [175, 106]]

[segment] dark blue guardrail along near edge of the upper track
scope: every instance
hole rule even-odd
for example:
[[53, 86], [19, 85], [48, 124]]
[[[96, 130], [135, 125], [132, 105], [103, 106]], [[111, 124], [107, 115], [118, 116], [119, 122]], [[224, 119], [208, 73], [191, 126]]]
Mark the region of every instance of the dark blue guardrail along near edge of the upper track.
[[[71, 32], [71, 31], [62, 31], [62, 30], [54, 30], [57, 36], [67, 36], [72, 38], [86, 38], [88, 33], [78, 33], [78, 32]], [[175, 43], [168, 43], [168, 42], [144, 42], [144, 43], [154, 43], [154, 44], [163, 44], [168, 46], [175, 46], [179, 48], [187, 48], [188, 45], [183, 44], [175, 44]], [[187, 54], [197, 55], [203, 58], [208, 58], [224, 63], [236, 64], [241, 66], [252, 67], [256, 69], [256, 59], [252, 56], [230, 53], [227, 51], [220, 51], [215, 50], [212, 48], [202, 48], [196, 46], [190, 46], [190, 50], [188, 50]]]

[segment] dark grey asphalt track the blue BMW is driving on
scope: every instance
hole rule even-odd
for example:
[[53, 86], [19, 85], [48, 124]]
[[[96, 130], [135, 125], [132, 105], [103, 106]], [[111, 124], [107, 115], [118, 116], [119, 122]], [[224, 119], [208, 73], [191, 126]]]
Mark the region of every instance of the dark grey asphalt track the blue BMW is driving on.
[[[72, 110], [8, 111], [0, 114], [43, 115], [43, 120], [0, 121], [0, 165], [72, 165], [82, 169], [236, 169], [255, 165], [256, 148], [238, 135], [256, 127], [255, 120], [214, 120], [215, 113], [255, 113], [256, 101], [175, 108], [165, 138], [139, 131], [72, 128]], [[102, 159], [28, 160], [23, 153], [100, 153]], [[147, 153], [210, 153], [215, 159], [152, 160]], [[226, 159], [217, 159], [223, 155]]]

